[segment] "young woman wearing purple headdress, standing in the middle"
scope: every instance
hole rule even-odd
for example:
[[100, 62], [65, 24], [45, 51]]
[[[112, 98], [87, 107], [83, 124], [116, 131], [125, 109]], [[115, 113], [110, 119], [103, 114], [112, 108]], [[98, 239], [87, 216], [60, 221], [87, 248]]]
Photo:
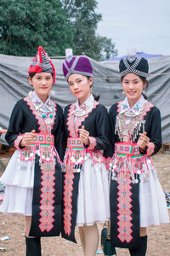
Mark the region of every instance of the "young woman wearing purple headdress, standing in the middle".
[[63, 228], [65, 239], [75, 240], [79, 228], [85, 256], [94, 256], [99, 244], [97, 223], [110, 217], [109, 182], [105, 168], [109, 116], [91, 92], [93, 68], [85, 56], [63, 64], [65, 79], [77, 102], [65, 108], [67, 148], [63, 170]]

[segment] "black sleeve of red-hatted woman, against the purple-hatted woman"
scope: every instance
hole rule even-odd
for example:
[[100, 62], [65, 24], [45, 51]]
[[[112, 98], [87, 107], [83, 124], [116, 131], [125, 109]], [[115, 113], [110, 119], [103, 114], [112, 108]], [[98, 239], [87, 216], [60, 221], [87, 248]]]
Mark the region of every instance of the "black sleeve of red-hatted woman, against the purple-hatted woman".
[[57, 111], [58, 111], [58, 126], [54, 133], [54, 145], [57, 149], [57, 152], [59, 154], [59, 158], [61, 161], [64, 159], [65, 155], [65, 148], [66, 148], [66, 137], [65, 137], [65, 127], [64, 127], [64, 115], [63, 115], [63, 109], [57, 105]]

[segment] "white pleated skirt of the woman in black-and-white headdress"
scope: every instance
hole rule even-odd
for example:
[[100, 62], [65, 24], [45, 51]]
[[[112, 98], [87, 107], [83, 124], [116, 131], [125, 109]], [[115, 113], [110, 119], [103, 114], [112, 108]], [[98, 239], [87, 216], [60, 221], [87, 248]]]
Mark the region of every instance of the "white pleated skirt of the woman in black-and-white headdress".
[[[141, 227], [169, 222], [167, 202], [156, 174], [156, 167], [153, 165], [150, 157], [146, 156], [146, 161], [149, 169], [149, 177], [145, 178], [145, 174], [141, 174], [139, 183]], [[144, 167], [146, 168], [146, 166]]]

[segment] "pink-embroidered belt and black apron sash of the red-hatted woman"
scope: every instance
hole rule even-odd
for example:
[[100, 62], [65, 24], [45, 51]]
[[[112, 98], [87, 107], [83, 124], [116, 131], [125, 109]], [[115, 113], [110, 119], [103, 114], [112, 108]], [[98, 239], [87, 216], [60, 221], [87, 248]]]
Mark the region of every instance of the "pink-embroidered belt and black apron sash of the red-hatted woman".
[[61, 173], [58, 173], [61, 172], [59, 155], [54, 150], [53, 135], [41, 133], [35, 135], [35, 144], [26, 146], [20, 152], [21, 161], [35, 161], [30, 236], [59, 236], [61, 209], [55, 206], [56, 201], [54, 201], [56, 192], [58, 196], [60, 194], [61, 200], [61, 192], [58, 191], [61, 189]]

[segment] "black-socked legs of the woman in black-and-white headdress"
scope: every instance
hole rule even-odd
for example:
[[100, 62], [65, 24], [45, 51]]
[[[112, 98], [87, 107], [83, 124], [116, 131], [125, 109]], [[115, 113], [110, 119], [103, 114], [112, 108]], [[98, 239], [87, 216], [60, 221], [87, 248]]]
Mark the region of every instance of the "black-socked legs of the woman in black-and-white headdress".
[[129, 249], [131, 256], [145, 256], [147, 249], [147, 234], [146, 228], [140, 228], [140, 239], [141, 239], [141, 247], [137, 249]]

